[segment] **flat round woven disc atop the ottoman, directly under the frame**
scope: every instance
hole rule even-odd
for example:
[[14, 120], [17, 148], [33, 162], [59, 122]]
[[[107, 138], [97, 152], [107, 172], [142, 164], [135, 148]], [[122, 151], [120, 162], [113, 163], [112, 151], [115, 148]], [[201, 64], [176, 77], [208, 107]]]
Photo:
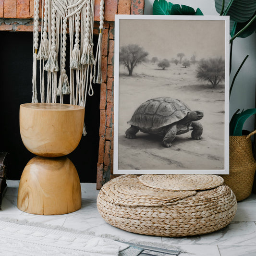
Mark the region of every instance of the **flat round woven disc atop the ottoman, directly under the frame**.
[[148, 187], [172, 191], [204, 190], [224, 183], [223, 178], [212, 174], [151, 174], [141, 175], [139, 181]]

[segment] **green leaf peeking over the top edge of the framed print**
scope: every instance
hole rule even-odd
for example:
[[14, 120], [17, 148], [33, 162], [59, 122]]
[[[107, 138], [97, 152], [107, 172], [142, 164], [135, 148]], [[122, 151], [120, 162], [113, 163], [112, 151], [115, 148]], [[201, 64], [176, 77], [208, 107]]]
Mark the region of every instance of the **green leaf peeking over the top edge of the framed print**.
[[155, 0], [153, 3], [154, 15], [204, 15], [199, 8], [196, 11], [189, 6], [173, 4], [166, 0]]

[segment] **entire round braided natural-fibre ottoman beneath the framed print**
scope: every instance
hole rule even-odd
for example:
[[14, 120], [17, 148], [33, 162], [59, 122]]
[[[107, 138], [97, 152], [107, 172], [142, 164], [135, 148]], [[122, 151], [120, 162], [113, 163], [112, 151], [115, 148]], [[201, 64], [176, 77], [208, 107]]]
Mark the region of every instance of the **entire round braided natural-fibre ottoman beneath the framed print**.
[[97, 207], [105, 221], [122, 230], [175, 237], [224, 228], [237, 201], [217, 175], [122, 175], [104, 184]]

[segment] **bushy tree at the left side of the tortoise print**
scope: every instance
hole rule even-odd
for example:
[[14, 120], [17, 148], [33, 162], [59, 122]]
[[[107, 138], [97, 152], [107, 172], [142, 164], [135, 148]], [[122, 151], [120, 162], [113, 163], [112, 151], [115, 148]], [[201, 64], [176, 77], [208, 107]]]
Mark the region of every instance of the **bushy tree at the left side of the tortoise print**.
[[137, 44], [130, 44], [122, 46], [119, 52], [119, 61], [123, 64], [129, 72], [129, 75], [133, 75], [134, 67], [139, 63], [146, 62], [146, 52], [142, 47]]

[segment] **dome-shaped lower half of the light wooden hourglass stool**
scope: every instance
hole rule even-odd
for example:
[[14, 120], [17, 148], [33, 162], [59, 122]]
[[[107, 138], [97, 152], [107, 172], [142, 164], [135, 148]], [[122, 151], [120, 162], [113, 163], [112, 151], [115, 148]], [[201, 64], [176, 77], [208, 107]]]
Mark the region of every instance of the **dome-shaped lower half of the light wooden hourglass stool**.
[[17, 207], [27, 213], [57, 215], [81, 208], [81, 186], [69, 158], [32, 158], [21, 176]]

